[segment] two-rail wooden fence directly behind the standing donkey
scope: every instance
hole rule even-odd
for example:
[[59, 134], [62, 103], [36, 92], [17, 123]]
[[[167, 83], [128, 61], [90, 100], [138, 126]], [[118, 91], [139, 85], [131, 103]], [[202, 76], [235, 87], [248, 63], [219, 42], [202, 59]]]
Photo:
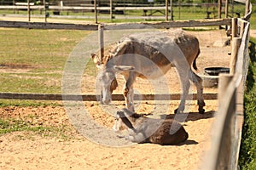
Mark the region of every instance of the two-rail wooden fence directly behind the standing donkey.
[[[45, 23], [45, 22], [22, 22], [22, 21], [4, 21], [0, 20], [0, 27], [13, 28], [29, 28], [29, 29], [67, 29], [67, 30], [122, 30], [122, 29], [148, 29], [148, 28], [171, 28], [171, 27], [195, 27], [195, 26], [230, 26], [230, 19], [215, 19], [215, 20], [184, 20], [184, 21], [160, 21], [160, 22], [141, 22], [141, 23], [124, 23], [124, 24], [105, 24], [103, 27], [96, 24], [61, 24], [61, 23]], [[102, 35], [102, 34], [99, 34]], [[103, 47], [103, 38], [99, 36], [99, 44]], [[102, 44], [102, 45], [101, 45]], [[102, 47], [100, 47], [102, 49]], [[163, 94], [161, 99], [180, 99], [181, 94]], [[192, 99], [196, 99], [196, 94], [191, 94]], [[135, 99], [154, 100], [154, 94], [143, 94], [142, 96], [135, 95]], [[63, 94], [15, 94], [15, 93], [0, 93], [0, 99], [34, 99], [34, 100], [77, 100], [96, 101], [97, 97], [93, 94], [82, 95], [63, 95]], [[217, 94], [204, 94], [204, 99], [218, 99]], [[123, 95], [113, 94], [113, 100], [124, 100]]]

